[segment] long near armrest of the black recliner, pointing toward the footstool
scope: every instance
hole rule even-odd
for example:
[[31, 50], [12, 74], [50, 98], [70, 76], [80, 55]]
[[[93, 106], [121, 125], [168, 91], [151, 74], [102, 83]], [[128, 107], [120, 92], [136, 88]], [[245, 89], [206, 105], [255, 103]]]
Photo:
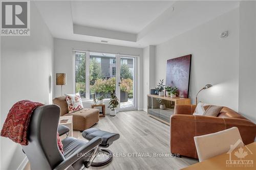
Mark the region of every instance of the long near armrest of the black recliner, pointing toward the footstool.
[[86, 153], [93, 150], [95, 147], [97, 147], [102, 142], [101, 137], [94, 137], [92, 140], [90, 140], [88, 143], [86, 143], [83, 147], [78, 149], [75, 153], [73, 153], [70, 157], [63, 160], [58, 166], [54, 168], [54, 170], [63, 170], [72, 165], [74, 162], [76, 162], [78, 159], [83, 157]]

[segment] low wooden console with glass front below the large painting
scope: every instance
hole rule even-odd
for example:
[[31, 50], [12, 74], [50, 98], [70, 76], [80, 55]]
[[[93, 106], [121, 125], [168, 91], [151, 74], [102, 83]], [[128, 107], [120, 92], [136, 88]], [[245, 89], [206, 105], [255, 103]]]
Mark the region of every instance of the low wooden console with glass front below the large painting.
[[[165, 104], [166, 109], [160, 109], [159, 100]], [[170, 125], [170, 115], [174, 114], [175, 105], [190, 105], [188, 98], [170, 98], [155, 94], [147, 94], [147, 115]]]

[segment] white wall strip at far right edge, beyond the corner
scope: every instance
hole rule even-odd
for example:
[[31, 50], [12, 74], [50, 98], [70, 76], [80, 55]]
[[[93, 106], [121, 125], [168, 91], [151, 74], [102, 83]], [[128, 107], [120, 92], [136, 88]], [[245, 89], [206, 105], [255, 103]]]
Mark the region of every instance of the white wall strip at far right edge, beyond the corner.
[[256, 3], [240, 2], [239, 112], [256, 123]]

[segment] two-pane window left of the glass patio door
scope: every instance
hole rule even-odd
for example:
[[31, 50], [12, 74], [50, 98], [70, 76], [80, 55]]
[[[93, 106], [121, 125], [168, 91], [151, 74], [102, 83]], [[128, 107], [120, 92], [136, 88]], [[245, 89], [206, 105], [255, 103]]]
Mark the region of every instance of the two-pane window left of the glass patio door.
[[[116, 88], [116, 55], [105, 53], [74, 52], [75, 92], [81, 98], [110, 98]], [[86, 72], [88, 71], [88, 72]]]

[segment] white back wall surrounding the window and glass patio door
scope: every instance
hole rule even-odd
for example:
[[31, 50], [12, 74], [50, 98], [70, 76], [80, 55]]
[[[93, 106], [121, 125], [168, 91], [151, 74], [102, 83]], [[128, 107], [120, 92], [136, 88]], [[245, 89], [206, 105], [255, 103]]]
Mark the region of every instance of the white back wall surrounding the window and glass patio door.
[[[74, 93], [74, 67], [73, 67], [73, 55], [72, 49], [75, 50], [91, 50], [99, 51], [105, 53], [120, 53], [120, 54], [129, 54], [129, 55], [139, 55], [137, 60], [138, 74], [136, 75], [139, 79], [137, 80], [138, 91], [137, 91], [137, 100], [138, 100], [138, 109], [142, 110], [143, 100], [142, 100], [142, 84], [143, 74], [142, 74], [142, 57], [143, 51], [142, 48], [133, 48], [125, 47], [118, 45], [108, 45], [108, 44], [99, 44], [91, 42], [82, 42], [82, 41], [73, 41], [54, 38], [54, 80], [56, 72], [63, 72], [67, 74], [67, 85], [62, 86], [62, 93]], [[61, 91], [60, 87], [54, 85], [54, 97], [60, 96]], [[84, 107], [90, 107], [90, 103], [83, 102]]]

